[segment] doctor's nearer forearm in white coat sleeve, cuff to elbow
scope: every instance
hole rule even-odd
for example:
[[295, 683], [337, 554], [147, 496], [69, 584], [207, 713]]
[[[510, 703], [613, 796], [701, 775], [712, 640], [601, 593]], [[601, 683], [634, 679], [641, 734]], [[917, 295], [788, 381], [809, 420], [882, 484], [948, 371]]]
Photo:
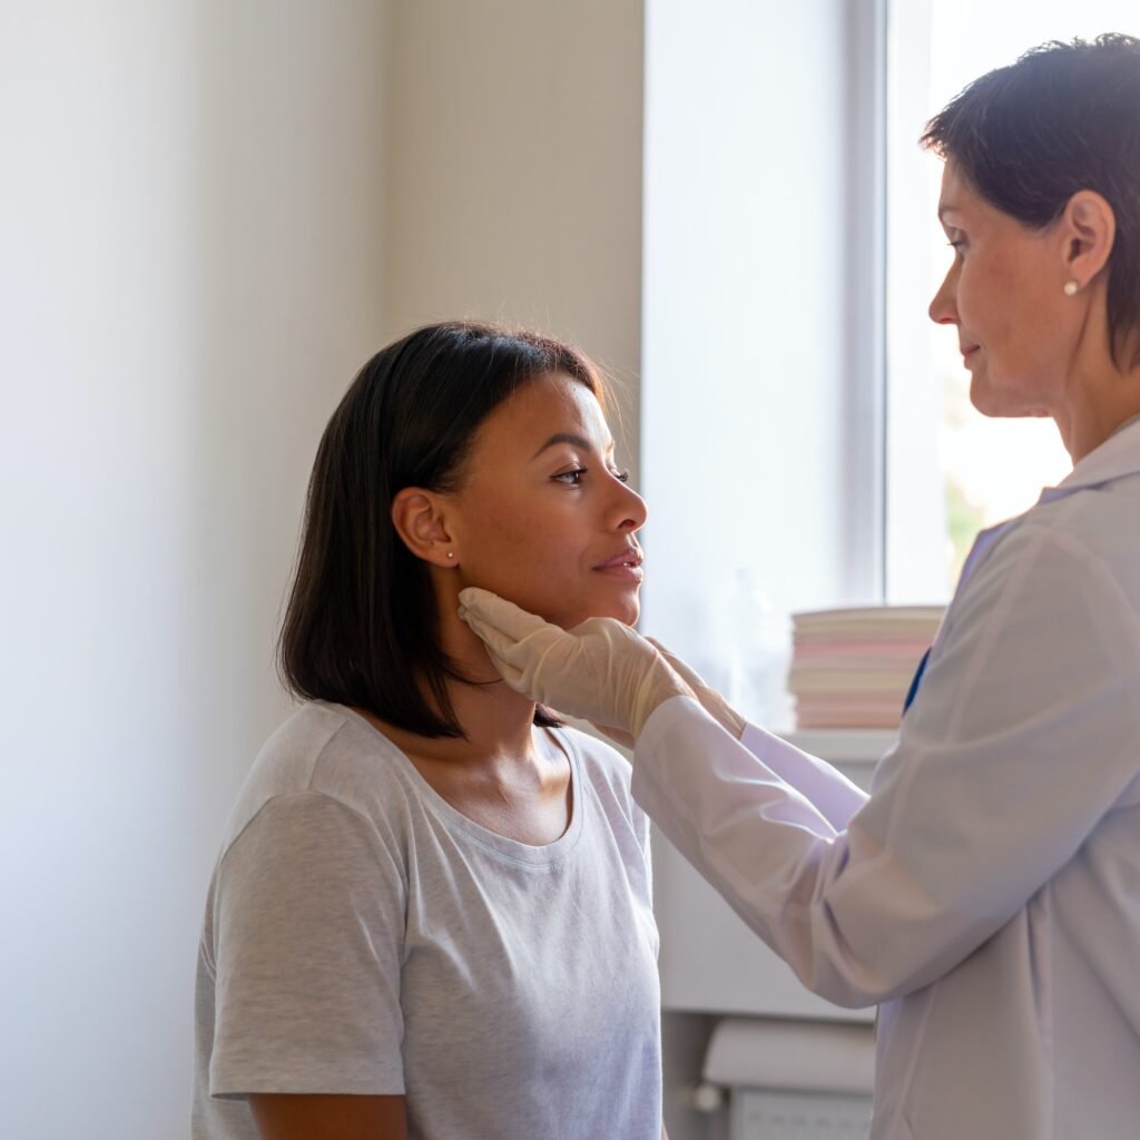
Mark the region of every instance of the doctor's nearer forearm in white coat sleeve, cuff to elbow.
[[[634, 796], [813, 992], [871, 1005], [933, 980], [984, 936], [939, 911], [869, 837], [832, 826], [693, 702], [638, 740]], [[979, 927], [979, 929], [975, 929]]]

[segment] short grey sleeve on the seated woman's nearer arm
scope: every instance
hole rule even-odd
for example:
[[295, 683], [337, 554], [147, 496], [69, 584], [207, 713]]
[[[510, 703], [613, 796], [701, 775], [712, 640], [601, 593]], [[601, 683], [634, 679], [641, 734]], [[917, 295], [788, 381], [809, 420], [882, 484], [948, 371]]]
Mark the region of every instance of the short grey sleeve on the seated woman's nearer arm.
[[390, 837], [335, 799], [271, 799], [214, 894], [210, 1092], [399, 1094], [406, 880]]

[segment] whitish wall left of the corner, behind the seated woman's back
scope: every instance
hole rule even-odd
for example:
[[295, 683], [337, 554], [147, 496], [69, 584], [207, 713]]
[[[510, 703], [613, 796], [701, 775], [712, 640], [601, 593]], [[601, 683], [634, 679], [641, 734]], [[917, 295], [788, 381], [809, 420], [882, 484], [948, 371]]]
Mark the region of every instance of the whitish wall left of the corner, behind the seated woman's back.
[[0, 9], [0, 1131], [184, 1137], [194, 956], [377, 347], [386, 5]]

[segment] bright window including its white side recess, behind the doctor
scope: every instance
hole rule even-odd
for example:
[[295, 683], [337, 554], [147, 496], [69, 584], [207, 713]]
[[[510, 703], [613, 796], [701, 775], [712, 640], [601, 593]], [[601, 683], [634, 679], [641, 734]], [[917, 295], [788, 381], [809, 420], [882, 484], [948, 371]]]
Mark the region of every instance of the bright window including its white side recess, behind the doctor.
[[927, 317], [950, 251], [918, 138], [1135, 3], [645, 6], [646, 629], [765, 723], [788, 614], [944, 602], [978, 528], [1067, 473], [1051, 422], [968, 406]]

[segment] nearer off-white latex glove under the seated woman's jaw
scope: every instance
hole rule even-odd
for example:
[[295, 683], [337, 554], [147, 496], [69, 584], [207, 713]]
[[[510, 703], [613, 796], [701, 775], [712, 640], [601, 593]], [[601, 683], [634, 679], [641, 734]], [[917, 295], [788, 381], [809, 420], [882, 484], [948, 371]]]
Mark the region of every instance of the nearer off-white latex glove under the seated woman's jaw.
[[663, 701], [693, 695], [657, 649], [616, 618], [568, 630], [486, 589], [465, 589], [459, 602], [503, 679], [560, 712], [636, 738]]

